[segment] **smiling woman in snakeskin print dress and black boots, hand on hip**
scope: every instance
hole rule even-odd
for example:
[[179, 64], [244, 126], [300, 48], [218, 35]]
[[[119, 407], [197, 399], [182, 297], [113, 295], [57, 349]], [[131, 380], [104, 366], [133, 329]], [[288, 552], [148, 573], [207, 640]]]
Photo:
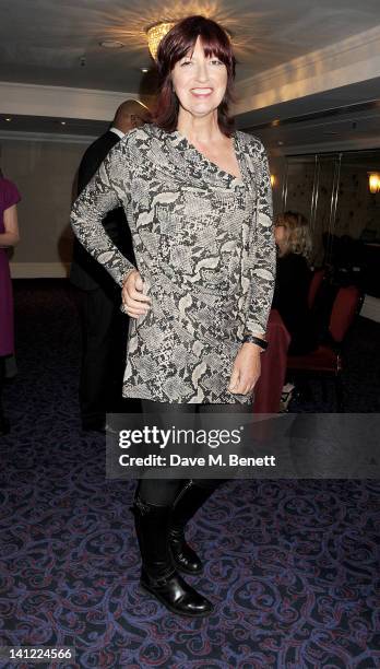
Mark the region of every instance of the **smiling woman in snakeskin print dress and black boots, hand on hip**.
[[[203, 16], [182, 20], [157, 60], [155, 122], [111, 151], [74, 204], [73, 228], [122, 287], [131, 316], [124, 397], [141, 398], [144, 412], [248, 412], [274, 283], [266, 156], [260, 141], [234, 132], [235, 58], [221, 26]], [[138, 269], [100, 225], [120, 202]], [[216, 484], [138, 485], [141, 584], [176, 613], [212, 611], [177, 570], [202, 570], [185, 526]]]

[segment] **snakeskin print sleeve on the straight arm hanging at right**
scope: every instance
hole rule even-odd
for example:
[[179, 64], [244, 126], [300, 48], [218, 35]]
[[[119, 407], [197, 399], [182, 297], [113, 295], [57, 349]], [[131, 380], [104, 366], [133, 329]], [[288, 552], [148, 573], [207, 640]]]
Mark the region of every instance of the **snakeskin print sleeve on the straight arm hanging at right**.
[[250, 302], [245, 334], [265, 334], [272, 305], [276, 250], [273, 235], [272, 187], [268, 157], [260, 142], [257, 220], [250, 238]]

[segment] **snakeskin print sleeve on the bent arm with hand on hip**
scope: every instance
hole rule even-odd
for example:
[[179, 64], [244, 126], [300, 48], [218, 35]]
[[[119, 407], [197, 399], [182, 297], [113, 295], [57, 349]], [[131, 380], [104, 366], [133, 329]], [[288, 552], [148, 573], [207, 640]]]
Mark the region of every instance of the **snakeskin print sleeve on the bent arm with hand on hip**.
[[102, 221], [108, 211], [128, 199], [130, 181], [131, 164], [126, 145], [120, 141], [75, 200], [70, 219], [81, 244], [119, 285], [122, 285], [127, 273], [135, 268], [112, 243]]

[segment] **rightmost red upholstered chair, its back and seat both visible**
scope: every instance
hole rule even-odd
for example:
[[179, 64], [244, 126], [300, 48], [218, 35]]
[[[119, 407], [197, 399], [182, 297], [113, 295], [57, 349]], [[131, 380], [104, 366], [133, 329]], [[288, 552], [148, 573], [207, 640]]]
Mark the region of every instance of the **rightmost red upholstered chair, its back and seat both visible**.
[[319, 377], [322, 380], [332, 377], [335, 380], [339, 412], [343, 411], [342, 344], [349, 326], [361, 308], [363, 298], [364, 296], [356, 286], [341, 287], [330, 316], [331, 341], [320, 344], [312, 353], [287, 356], [287, 371], [292, 376]]

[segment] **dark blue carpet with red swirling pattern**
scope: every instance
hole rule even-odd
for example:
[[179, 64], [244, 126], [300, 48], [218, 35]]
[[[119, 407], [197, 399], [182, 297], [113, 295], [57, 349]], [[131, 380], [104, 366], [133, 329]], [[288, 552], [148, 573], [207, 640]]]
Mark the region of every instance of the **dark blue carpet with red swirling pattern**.
[[[73, 646], [64, 667], [379, 667], [379, 482], [228, 482], [189, 531], [206, 563], [189, 582], [215, 612], [167, 612], [139, 590], [133, 485], [105, 480], [104, 439], [79, 430], [71, 292], [17, 282], [15, 300], [19, 376], [7, 388], [12, 433], [0, 439], [0, 646]], [[349, 402], [361, 411], [376, 410], [375, 336], [379, 326], [360, 319], [349, 344], [360, 352]]]

